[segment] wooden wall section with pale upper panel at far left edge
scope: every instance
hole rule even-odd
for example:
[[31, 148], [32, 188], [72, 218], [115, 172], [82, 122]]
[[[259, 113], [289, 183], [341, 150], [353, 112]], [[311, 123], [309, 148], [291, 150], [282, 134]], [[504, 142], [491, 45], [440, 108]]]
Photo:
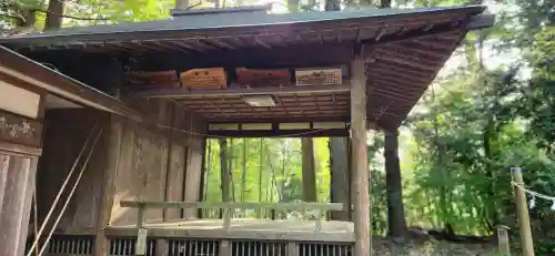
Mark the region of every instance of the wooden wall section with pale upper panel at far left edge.
[[[8, 82], [0, 83], [0, 255], [20, 256], [42, 147], [43, 111], [39, 93]], [[17, 101], [9, 99], [13, 95]]]

